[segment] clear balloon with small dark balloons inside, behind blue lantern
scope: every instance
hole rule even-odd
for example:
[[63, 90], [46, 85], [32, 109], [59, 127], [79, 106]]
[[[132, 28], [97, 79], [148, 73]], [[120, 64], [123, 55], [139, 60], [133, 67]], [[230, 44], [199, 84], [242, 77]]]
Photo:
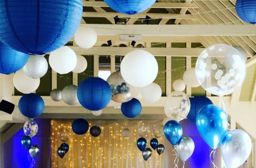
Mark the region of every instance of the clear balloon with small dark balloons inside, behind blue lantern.
[[130, 93], [131, 86], [124, 81], [120, 70], [112, 73], [108, 77], [107, 82], [112, 90], [112, 100], [118, 103], [124, 103], [132, 99]]

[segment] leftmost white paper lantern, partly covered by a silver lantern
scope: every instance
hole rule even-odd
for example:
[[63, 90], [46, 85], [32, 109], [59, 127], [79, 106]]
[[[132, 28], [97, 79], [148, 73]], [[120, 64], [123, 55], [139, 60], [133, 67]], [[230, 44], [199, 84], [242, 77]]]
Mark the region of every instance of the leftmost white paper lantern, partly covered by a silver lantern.
[[13, 75], [13, 85], [21, 93], [32, 93], [39, 87], [40, 78], [28, 77], [22, 69]]

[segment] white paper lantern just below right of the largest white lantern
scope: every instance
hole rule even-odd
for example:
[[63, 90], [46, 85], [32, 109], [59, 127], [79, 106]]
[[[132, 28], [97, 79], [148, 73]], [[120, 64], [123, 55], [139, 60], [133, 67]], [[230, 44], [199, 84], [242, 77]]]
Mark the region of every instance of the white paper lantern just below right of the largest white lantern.
[[141, 96], [148, 102], [156, 102], [162, 96], [162, 89], [158, 84], [152, 83], [141, 89]]

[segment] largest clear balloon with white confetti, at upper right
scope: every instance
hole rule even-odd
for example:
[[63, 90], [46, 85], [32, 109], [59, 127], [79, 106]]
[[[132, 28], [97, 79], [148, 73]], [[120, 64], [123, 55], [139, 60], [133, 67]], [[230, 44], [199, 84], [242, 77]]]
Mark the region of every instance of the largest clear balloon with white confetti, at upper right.
[[244, 82], [246, 65], [236, 48], [216, 44], [206, 48], [196, 61], [196, 78], [208, 92], [225, 96]]

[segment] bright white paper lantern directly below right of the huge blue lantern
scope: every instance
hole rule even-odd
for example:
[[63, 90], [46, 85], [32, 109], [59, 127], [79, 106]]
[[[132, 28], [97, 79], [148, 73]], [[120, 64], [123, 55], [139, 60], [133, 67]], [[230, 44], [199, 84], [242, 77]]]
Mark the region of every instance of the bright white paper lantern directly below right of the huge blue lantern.
[[49, 56], [51, 68], [59, 74], [71, 72], [76, 67], [76, 63], [76, 53], [68, 46], [63, 46], [52, 51]]

